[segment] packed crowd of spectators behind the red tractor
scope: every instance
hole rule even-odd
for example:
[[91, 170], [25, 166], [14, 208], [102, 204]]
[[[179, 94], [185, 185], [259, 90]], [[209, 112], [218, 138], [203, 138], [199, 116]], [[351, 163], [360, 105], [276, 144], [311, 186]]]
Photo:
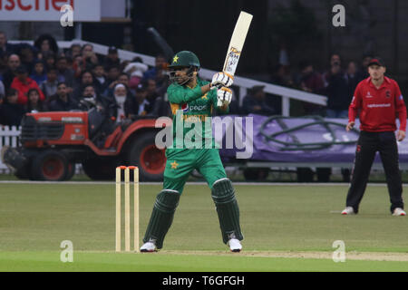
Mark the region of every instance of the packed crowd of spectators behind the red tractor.
[[121, 62], [116, 47], [100, 55], [90, 43], [63, 50], [51, 35], [30, 45], [0, 32], [0, 124], [19, 126], [26, 112], [87, 110], [83, 100], [111, 108], [118, 122], [169, 115], [165, 67], [163, 56], [149, 68], [141, 58]]

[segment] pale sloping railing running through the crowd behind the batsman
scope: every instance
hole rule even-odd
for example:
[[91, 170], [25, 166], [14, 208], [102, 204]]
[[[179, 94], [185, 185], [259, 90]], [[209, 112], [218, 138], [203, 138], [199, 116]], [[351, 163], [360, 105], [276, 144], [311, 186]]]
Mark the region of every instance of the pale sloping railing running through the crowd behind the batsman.
[[[9, 43], [29, 43], [31, 45], [34, 44], [34, 41], [9, 41]], [[79, 39], [74, 39], [73, 41], [58, 41], [58, 46], [60, 48], [70, 48], [73, 43], [78, 43], [83, 45], [84, 43], [91, 43], [86, 42]], [[108, 54], [107, 45], [102, 45], [99, 43], [91, 43], [93, 46], [93, 51], [95, 53], [99, 53], [102, 55]], [[155, 58], [150, 55], [141, 54], [141, 53], [132, 53], [129, 51], [125, 51], [122, 49], [118, 49], [119, 58], [122, 61], [131, 61], [135, 57], [140, 57], [143, 63], [153, 66]], [[200, 69], [199, 76], [203, 79], [210, 80], [214, 73], [218, 73], [216, 71], [211, 71], [207, 69]], [[314, 104], [318, 104], [321, 106], [327, 105], [327, 97], [323, 95], [319, 95], [316, 93], [310, 92], [303, 92], [295, 89], [289, 89], [287, 87], [275, 85], [268, 82], [260, 82], [244, 77], [236, 76], [234, 79], [234, 85], [238, 87], [239, 92], [239, 103], [242, 104], [243, 98], [247, 95], [247, 90], [254, 85], [263, 85], [265, 86], [264, 91], [267, 93], [271, 93], [282, 98], [282, 115], [289, 116], [290, 115], [290, 99], [302, 101], [302, 102], [310, 102]]]

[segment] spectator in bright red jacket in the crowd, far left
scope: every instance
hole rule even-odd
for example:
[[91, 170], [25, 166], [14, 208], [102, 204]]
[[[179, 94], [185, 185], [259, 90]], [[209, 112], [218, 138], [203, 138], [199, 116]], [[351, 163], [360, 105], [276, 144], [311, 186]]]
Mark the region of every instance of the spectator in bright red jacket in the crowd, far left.
[[17, 90], [18, 92], [17, 102], [19, 104], [25, 105], [28, 102], [27, 92], [30, 89], [37, 89], [38, 92], [40, 93], [40, 100], [42, 102], [45, 101], [44, 93], [38, 87], [37, 82], [28, 77], [27, 69], [23, 65], [17, 67], [17, 69], [15, 70], [15, 75], [16, 75], [15, 79], [13, 80], [10, 87], [12, 89]]

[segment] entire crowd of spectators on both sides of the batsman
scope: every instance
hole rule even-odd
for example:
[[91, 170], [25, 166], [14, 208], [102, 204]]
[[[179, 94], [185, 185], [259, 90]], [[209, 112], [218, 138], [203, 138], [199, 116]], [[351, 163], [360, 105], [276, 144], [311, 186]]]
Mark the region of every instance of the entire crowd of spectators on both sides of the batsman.
[[[346, 118], [357, 83], [368, 77], [370, 59], [364, 57], [360, 67], [355, 62], [343, 65], [340, 55], [333, 54], [322, 73], [310, 62], [300, 63], [298, 73], [279, 64], [270, 82], [328, 97], [326, 108], [303, 102], [304, 115]], [[90, 43], [73, 43], [63, 50], [48, 34], [38, 37], [34, 45], [13, 44], [0, 32], [0, 124], [18, 126], [26, 112], [86, 110], [80, 103], [90, 99], [114, 108], [112, 115], [118, 122], [137, 116], [169, 116], [166, 66], [160, 55], [149, 68], [138, 57], [121, 62], [115, 47], [107, 55], [96, 54]], [[266, 94], [263, 86], [249, 89], [241, 103], [234, 100], [230, 113], [281, 113], [280, 97]]]

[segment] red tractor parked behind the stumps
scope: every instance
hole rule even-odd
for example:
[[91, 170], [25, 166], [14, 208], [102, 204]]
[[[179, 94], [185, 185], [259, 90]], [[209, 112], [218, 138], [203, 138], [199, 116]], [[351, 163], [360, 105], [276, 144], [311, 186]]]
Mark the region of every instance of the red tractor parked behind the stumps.
[[116, 123], [97, 108], [89, 111], [28, 113], [21, 126], [22, 147], [4, 148], [3, 162], [20, 179], [73, 178], [82, 163], [91, 179], [114, 179], [118, 165], [136, 165], [141, 180], [162, 179], [165, 151], [155, 146], [156, 119]]

